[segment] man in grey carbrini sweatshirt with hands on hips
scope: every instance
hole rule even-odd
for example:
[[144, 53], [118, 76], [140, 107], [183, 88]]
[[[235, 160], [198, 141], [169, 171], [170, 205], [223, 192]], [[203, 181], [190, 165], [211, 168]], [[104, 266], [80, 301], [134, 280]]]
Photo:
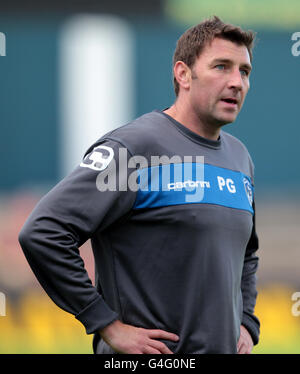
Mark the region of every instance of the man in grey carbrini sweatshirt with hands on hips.
[[[257, 344], [253, 163], [221, 130], [249, 89], [253, 40], [217, 17], [187, 30], [174, 54], [175, 103], [99, 139], [24, 225], [38, 280], [95, 334], [96, 353]], [[96, 288], [78, 250], [89, 238]]]

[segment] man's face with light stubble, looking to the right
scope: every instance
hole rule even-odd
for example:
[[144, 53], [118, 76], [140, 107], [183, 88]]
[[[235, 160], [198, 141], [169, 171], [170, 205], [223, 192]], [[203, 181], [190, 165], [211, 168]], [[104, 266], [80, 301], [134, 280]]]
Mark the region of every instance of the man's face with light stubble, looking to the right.
[[246, 46], [215, 38], [190, 69], [188, 99], [193, 113], [215, 126], [233, 122], [248, 92], [250, 71]]

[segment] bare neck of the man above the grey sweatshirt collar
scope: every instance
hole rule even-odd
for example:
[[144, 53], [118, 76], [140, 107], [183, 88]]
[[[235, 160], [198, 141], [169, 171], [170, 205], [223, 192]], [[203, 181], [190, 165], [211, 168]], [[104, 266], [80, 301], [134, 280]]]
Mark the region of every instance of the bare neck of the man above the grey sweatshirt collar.
[[164, 112], [174, 118], [177, 122], [187, 127], [189, 130], [210, 140], [218, 140], [220, 136], [220, 127], [201, 121], [192, 110], [186, 110], [187, 106], [175, 102]]

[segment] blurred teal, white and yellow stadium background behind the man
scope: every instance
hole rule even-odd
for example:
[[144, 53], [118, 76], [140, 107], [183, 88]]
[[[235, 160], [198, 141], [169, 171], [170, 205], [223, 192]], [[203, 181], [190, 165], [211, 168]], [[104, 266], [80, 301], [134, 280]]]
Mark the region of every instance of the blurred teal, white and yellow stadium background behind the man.
[[[256, 166], [261, 338], [254, 353], [300, 353], [292, 299], [300, 291], [296, 0], [0, 2], [0, 353], [92, 353], [92, 336], [37, 283], [18, 233], [90, 144], [173, 103], [176, 41], [212, 15], [257, 32], [251, 89], [225, 128]], [[89, 242], [81, 254], [94, 280]]]

